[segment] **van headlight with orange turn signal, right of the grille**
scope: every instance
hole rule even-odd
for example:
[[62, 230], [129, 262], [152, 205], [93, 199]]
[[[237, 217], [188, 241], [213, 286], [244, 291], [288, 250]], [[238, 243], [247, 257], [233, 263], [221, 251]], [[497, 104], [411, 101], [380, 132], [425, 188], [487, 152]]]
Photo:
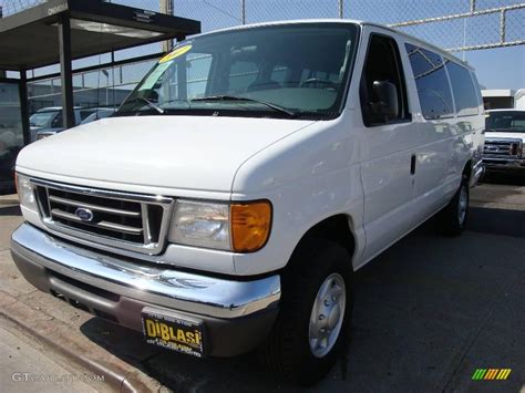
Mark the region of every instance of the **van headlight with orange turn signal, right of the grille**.
[[260, 249], [271, 227], [269, 201], [224, 204], [177, 200], [169, 241], [236, 252]]

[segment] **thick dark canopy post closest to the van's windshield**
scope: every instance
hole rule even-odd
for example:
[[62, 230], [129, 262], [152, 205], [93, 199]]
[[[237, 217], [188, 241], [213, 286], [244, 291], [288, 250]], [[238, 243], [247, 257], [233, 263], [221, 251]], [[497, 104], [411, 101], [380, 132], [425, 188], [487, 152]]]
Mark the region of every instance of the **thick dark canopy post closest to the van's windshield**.
[[73, 71], [71, 66], [71, 24], [69, 15], [59, 22], [60, 70], [62, 81], [62, 118], [65, 128], [75, 126], [73, 101]]

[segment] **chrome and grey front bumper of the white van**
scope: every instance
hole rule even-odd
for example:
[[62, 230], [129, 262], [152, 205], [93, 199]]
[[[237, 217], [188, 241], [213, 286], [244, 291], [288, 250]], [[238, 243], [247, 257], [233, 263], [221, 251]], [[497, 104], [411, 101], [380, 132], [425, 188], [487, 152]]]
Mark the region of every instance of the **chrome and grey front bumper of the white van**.
[[119, 324], [142, 330], [142, 309], [154, 307], [200, 320], [216, 342], [237, 335], [235, 345], [219, 343], [212, 354], [251, 349], [277, 316], [278, 275], [233, 280], [177, 271], [78, 247], [29, 224], [13, 232], [11, 254], [37, 288]]

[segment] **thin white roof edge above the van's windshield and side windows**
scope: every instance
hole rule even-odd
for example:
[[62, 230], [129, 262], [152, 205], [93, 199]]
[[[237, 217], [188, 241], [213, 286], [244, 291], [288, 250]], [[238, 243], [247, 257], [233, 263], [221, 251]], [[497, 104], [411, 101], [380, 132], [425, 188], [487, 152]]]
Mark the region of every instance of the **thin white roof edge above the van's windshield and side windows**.
[[[455, 55], [451, 54], [450, 52], [446, 52], [445, 50], [431, 44], [426, 41], [420, 40], [413, 35], [406, 34], [400, 30], [395, 30], [393, 28], [389, 28], [384, 24], [381, 23], [375, 23], [375, 22], [367, 22], [362, 20], [354, 20], [354, 19], [297, 19], [297, 20], [281, 20], [281, 21], [270, 21], [270, 22], [260, 22], [260, 23], [251, 23], [251, 24], [241, 24], [241, 25], [236, 25], [233, 28], [225, 28], [225, 29], [218, 29], [214, 31], [208, 31], [205, 33], [196, 34], [193, 37], [203, 37], [203, 35], [208, 35], [208, 34], [214, 34], [217, 32], [225, 32], [225, 31], [235, 31], [235, 30], [244, 30], [244, 29], [251, 29], [251, 28], [260, 28], [260, 27], [267, 27], [267, 25], [282, 25], [282, 24], [299, 24], [299, 23], [334, 23], [334, 24], [357, 24], [360, 27], [363, 25], [372, 25], [381, 29], [385, 29], [391, 31], [392, 33], [402, 35], [406, 39], [409, 39], [412, 42], [415, 42], [418, 44], [421, 44], [422, 46], [425, 46], [426, 49], [431, 49], [432, 51], [439, 52], [443, 58], [446, 58], [449, 60], [452, 60], [456, 63], [462, 64], [463, 66], [466, 66], [470, 70], [474, 70], [472, 65], [469, 63], [464, 62], [463, 60], [456, 58]], [[189, 38], [192, 39], [192, 38]]]

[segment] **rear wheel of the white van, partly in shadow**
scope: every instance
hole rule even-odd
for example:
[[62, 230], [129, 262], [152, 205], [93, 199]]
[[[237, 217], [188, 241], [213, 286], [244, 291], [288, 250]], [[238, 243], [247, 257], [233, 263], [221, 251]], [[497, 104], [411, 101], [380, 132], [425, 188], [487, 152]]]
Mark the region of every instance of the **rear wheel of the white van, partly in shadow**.
[[469, 178], [463, 176], [452, 200], [437, 214], [437, 229], [442, 235], [461, 235], [469, 218]]

